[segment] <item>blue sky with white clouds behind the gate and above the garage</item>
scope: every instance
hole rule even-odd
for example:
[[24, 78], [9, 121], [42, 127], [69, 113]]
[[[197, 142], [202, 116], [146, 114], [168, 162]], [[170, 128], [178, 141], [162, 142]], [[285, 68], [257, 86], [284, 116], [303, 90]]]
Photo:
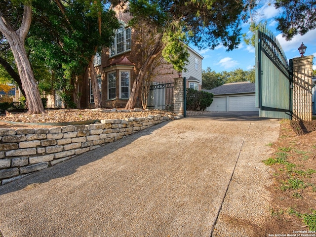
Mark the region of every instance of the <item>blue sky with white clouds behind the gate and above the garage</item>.
[[[260, 13], [260, 16], [257, 16], [256, 22], [259, 22], [260, 20], [267, 21], [268, 29], [275, 34], [288, 60], [300, 57], [298, 47], [302, 42], [307, 46], [304, 56], [314, 55], [316, 57], [316, 29], [308, 32], [304, 36], [297, 35], [292, 40], [286, 41], [282, 38], [282, 34], [276, 31], [276, 21], [274, 18], [279, 14], [279, 10], [275, 9], [273, 4], [266, 2], [261, 5], [258, 12]], [[248, 23], [242, 25], [242, 33], [250, 34]], [[254, 47], [246, 45], [243, 40], [241, 40], [237, 49], [230, 52], [227, 52], [222, 45], [217, 46], [214, 50], [198, 50], [196, 47], [192, 48], [204, 57], [202, 61], [202, 69], [204, 70], [207, 67], [210, 67], [211, 70], [214, 70], [215, 72], [230, 72], [237, 68], [249, 70], [255, 65]], [[316, 69], [315, 58], [313, 68]]]

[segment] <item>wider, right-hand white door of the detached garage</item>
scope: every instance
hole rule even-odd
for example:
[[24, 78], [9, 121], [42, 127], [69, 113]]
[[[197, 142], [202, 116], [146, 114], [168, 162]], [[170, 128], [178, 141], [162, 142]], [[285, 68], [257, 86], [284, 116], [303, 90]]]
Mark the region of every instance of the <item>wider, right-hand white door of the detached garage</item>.
[[257, 111], [255, 95], [230, 96], [229, 111]]

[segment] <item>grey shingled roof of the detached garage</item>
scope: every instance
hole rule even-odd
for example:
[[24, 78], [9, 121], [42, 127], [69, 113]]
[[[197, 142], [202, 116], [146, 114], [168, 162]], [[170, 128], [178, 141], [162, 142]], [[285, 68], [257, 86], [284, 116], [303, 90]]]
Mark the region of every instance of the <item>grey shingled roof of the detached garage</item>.
[[223, 94], [241, 94], [241, 93], [254, 93], [255, 83], [248, 81], [245, 82], [235, 82], [235, 83], [226, 83], [221, 86], [215, 87], [211, 90], [204, 90], [214, 95], [223, 95]]

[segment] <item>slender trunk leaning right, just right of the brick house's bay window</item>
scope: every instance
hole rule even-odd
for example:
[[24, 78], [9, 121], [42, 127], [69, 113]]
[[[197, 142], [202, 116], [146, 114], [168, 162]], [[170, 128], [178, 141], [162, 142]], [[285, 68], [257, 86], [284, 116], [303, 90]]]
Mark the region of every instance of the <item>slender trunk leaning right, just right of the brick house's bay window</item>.
[[129, 100], [125, 106], [126, 110], [130, 110], [130, 109], [133, 109], [135, 107], [135, 103], [137, 101], [137, 96], [139, 94], [139, 89], [142, 87], [142, 83], [144, 81], [146, 71], [149, 68], [149, 66], [154, 62], [154, 60], [161, 54], [162, 49], [163, 49], [163, 46], [161, 43], [161, 39], [158, 39], [155, 47], [153, 48], [150, 55], [146, 59], [145, 63], [143, 64], [143, 66], [139, 70], [137, 78], [134, 80], [133, 88], [132, 88], [132, 91], [130, 93]]

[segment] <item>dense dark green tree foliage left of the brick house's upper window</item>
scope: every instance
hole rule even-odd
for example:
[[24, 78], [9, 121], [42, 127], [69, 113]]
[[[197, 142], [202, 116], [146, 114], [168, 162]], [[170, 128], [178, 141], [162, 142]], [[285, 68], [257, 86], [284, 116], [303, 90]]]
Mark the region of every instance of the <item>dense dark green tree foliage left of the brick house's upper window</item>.
[[34, 13], [27, 44], [34, 58], [44, 62], [37, 64], [43, 70], [35, 75], [40, 81], [40, 90], [50, 93], [52, 89], [61, 89], [74, 94], [74, 89], [81, 87], [79, 84], [89, 60], [96, 50], [100, 52], [102, 47], [111, 45], [119, 24], [109, 1], [62, 3], [63, 12], [55, 1], [45, 0], [43, 4], [42, 0], [33, 0]]

